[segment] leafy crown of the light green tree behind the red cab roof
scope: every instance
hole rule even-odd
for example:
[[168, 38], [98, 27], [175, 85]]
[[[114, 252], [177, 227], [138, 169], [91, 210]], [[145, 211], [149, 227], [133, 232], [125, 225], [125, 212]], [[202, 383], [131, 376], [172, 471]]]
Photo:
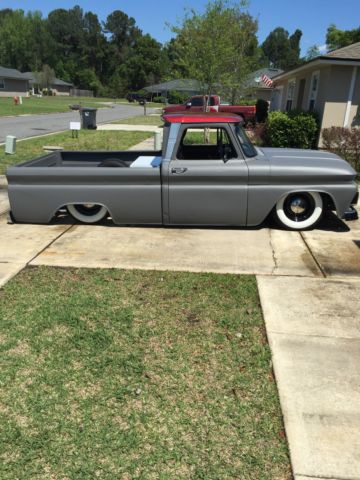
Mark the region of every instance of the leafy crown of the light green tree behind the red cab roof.
[[198, 80], [204, 95], [225, 91], [234, 100], [244, 93], [257, 53], [257, 22], [245, 6], [210, 1], [203, 14], [190, 10], [172, 27], [177, 68]]

